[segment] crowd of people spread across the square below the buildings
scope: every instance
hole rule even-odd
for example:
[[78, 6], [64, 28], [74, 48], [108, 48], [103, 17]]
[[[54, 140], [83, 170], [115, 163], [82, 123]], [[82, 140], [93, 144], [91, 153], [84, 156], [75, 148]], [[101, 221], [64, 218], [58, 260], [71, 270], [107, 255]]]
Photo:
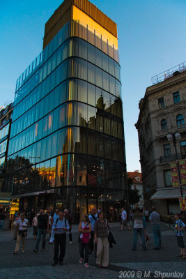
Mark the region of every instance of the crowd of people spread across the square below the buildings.
[[[3, 211], [0, 212], [1, 222], [0, 228], [6, 222], [6, 216]], [[3, 220], [3, 222], [2, 222]], [[10, 216], [9, 216], [10, 220]], [[175, 232], [180, 247], [178, 257], [186, 258], [185, 244], [183, 241], [183, 232], [186, 227], [185, 223], [181, 220], [179, 213], [175, 214]], [[135, 210], [130, 211], [130, 216], [127, 216], [127, 211], [121, 209], [121, 227], [126, 226], [131, 230], [131, 221], [133, 221], [134, 241], [132, 250], [137, 250], [138, 234], [141, 238], [141, 245], [144, 251], [147, 250], [149, 236], [147, 231], [147, 223], [150, 221], [153, 229], [153, 238], [155, 247], [154, 250], [162, 249], [162, 234], [160, 229], [160, 214], [157, 213], [155, 207], [151, 211], [142, 210], [137, 207]], [[33, 252], [37, 253], [40, 246], [42, 236], [41, 250], [45, 251], [45, 244], [49, 237], [49, 244], [54, 243], [54, 262], [56, 264], [63, 264], [65, 257], [66, 234], [68, 233], [69, 243], [72, 244], [72, 216], [68, 209], [64, 211], [56, 209], [52, 213], [51, 209], [45, 211], [40, 209], [39, 213], [35, 213], [32, 209], [29, 213], [29, 218], [26, 218], [22, 212], [16, 212], [13, 216], [13, 223], [15, 225], [14, 238], [17, 239], [14, 254], [17, 255], [20, 250], [20, 243], [22, 242], [21, 250], [24, 252], [25, 239], [27, 236], [27, 228], [29, 225], [33, 227], [33, 239], [36, 239], [36, 246]], [[110, 227], [107, 223], [106, 216], [101, 209], [96, 211], [95, 208], [91, 209], [91, 214], [88, 216], [84, 214], [82, 222], [79, 223], [79, 264], [83, 264], [86, 268], [88, 265], [88, 257], [90, 254], [95, 255], [96, 264], [98, 267], [107, 268], [109, 265], [109, 232]], [[111, 247], [111, 246], [110, 246]]]

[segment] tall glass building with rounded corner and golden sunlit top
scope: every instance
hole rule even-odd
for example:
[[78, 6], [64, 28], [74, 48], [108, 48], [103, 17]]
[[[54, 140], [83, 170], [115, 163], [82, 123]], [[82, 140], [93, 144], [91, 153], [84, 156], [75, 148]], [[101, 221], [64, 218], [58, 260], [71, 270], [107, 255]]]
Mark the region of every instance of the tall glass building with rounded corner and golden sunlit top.
[[117, 217], [127, 199], [120, 70], [116, 24], [87, 0], [65, 0], [17, 79], [7, 188], [21, 209]]

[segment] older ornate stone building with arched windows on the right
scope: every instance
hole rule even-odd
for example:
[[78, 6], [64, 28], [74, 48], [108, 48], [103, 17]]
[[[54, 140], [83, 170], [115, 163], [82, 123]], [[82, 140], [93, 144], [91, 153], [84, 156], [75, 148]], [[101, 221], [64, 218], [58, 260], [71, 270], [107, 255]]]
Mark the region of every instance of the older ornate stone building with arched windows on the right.
[[[170, 163], [186, 158], [186, 64], [152, 78], [139, 102], [139, 135], [144, 204], [162, 214], [180, 211], [180, 188], [173, 188]], [[176, 139], [176, 133], [180, 138]], [[169, 141], [171, 134], [175, 142]], [[177, 135], [178, 137], [178, 135]], [[176, 149], [175, 149], [176, 145]], [[183, 195], [186, 188], [183, 186]]]

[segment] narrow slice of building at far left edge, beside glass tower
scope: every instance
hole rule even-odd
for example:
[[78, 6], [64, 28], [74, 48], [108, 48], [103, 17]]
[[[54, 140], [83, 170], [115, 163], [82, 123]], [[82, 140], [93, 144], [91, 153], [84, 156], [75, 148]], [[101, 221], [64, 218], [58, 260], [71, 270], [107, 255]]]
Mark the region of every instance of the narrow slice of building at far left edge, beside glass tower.
[[0, 206], [8, 206], [11, 200], [11, 189], [5, 189], [5, 176], [12, 114], [13, 103], [0, 107]]

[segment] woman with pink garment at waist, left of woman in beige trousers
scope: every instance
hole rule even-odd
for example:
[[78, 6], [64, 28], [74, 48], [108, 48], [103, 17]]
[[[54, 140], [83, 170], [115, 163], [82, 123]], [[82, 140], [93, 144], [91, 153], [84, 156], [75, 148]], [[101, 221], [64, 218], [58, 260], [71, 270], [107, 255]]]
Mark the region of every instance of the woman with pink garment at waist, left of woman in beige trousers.
[[[83, 221], [79, 223], [78, 231], [81, 232], [79, 236], [79, 264], [83, 263], [86, 268], [88, 265], [88, 255], [89, 255], [89, 241], [90, 241], [90, 233], [91, 233], [91, 222], [88, 218], [87, 214], [84, 214]], [[84, 250], [85, 250], [85, 259], [84, 259]]]

